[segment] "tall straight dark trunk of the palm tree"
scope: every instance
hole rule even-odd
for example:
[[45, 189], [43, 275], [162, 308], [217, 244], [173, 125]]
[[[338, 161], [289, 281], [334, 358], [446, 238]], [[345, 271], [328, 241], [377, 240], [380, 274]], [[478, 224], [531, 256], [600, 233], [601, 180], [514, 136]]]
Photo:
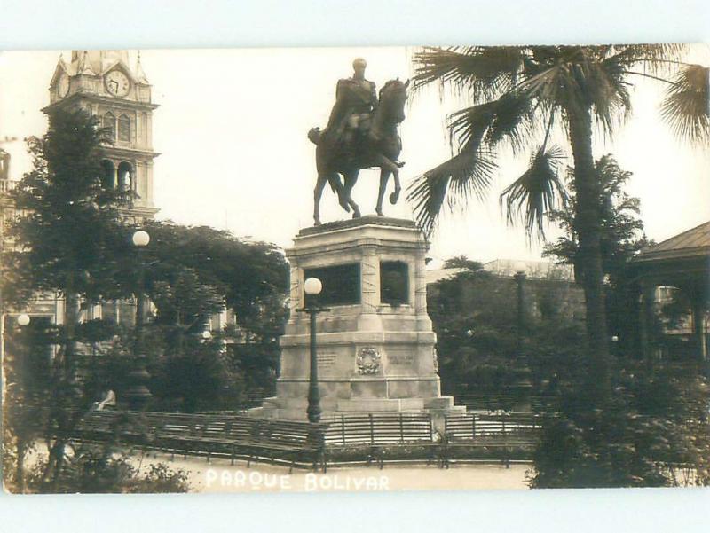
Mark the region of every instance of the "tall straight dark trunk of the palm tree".
[[600, 184], [596, 179], [592, 154], [592, 121], [589, 109], [569, 113], [570, 143], [574, 157], [574, 185], [577, 213], [574, 229], [580, 240], [579, 257], [587, 310], [588, 362], [590, 392], [603, 404], [611, 388], [609, 377], [609, 339], [604, 307], [604, 270], [600, 247]]

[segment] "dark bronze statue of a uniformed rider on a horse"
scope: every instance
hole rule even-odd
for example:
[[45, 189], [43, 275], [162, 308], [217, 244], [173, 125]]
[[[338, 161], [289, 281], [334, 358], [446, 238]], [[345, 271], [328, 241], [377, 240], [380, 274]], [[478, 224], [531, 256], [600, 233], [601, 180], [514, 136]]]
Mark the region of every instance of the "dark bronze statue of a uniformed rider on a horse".
[[[375, 82], [365, 79], [365, 59], [352, 62], [351, 78], [338, 80], [335, 89], [335, 106], [327, 121], [326, 129], [312, 128], [308, 138], [316, 145], [316, 168], [318, 181], [313, 192], [313, 222], [320, 224], [320, 197], [326, 183], [338, 195], [338, 201], [346, 212], [358, 218], [358, 204], [351, 198], [352, 188], [358, 181], [361, 169], [380, 169], [380, 191], [377, 196], [377, 215], [383, 216], [383, 197], [390, 176], [394, 176], [394, 192], [390, 202], [399, 199], [398, 161], [402, 151], [398, 125], [405, 120], [406, 89], [409, 82], [390, 80], [380, 90], [379, 98]], [[343, 183], [340, 181], [343, 176]]]

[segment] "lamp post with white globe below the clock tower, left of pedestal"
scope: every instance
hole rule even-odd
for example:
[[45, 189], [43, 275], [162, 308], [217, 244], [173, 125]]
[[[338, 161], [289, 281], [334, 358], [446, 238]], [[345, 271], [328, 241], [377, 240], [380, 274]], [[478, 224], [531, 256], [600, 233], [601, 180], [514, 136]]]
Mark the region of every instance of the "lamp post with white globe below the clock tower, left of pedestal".
[[148, 246], [150, 235], [147, 231], [138, 230], [131, 238], [133, 246], [138, 249], [138, 293], [136, 294], [136, 338], [133, 345], [133, 370], [129, 372], [130, 387], [126, 390], [130, 409], [139, 410], [150, 399], [150, 390], [146, 386], [150, 374], [146, 370], [146, 355], [143, 346], [143, 316], [146, 307], [146, 266], [141, 250]]

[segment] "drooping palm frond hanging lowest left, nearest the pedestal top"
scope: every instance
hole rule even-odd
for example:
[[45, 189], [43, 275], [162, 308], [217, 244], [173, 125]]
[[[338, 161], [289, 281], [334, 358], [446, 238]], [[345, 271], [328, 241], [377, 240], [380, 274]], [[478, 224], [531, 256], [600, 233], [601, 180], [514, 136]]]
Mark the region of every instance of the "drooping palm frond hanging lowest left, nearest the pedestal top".
[[493, 153], [469, 144], [450, 160], [414, 178], [407, 188], [406, 200], [412, 204], [422, 231], [426, 235], [434, 231], [445, 201], [448, 208], [454, 209], [467, 203], [471, 196], [482, 200], [497, 168]]

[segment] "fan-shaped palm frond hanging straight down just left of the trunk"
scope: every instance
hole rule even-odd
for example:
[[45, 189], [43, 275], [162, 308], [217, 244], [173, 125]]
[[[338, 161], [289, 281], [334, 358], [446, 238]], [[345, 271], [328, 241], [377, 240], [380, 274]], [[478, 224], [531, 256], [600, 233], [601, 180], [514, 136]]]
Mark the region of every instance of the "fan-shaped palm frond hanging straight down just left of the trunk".
[[538, 150], [530, 158], [530, 167], [501, 192], [501, 209], [505, 210], [506, 220], [513, 225], [523, 220], [529, 236], [537, 228], [544, 237], [544, 216], [557, 206], [558, 198], [565, 201], [564, 184], [557, 176], [564, 151], [556, 145], [547, 150]]

